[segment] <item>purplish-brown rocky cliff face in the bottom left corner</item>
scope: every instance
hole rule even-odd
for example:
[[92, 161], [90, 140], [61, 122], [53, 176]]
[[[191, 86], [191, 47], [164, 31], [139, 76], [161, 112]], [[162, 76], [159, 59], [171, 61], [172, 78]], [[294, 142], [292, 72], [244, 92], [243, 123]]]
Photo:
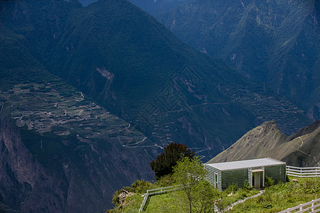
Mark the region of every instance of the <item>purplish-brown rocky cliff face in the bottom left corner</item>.
[[63, 212], [68, 182], [55, 178], [21, 141], [19, 129], [0, 116], [0, 196], [21, 212]]

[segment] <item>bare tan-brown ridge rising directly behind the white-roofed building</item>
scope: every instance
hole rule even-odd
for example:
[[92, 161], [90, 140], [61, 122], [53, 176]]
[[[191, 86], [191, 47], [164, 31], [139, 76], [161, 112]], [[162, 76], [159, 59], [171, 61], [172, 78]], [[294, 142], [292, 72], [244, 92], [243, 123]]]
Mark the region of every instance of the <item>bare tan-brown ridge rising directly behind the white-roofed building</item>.
[[319, 148], [320, 120], [292, 136], [284, 135], [274, 121], [267, 121], [245, 133], [208, 163], [271, 157], [287, 165], [313, 167], [320, 165]]

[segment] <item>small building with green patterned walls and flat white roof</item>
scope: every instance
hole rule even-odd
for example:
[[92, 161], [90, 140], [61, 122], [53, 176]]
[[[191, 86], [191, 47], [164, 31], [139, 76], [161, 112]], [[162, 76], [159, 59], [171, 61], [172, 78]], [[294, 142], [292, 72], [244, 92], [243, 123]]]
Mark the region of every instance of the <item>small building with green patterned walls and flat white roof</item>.
[[208, 170], [207, 180], [218, 190], [225, 190], [228, 185], [243, 187], [245, 180], [256, 189], [265, 187], [265, 178], [274, 183], [286, 181], [286, 163], [273, 158], [238, 160], [224, 163], [205, 163]]

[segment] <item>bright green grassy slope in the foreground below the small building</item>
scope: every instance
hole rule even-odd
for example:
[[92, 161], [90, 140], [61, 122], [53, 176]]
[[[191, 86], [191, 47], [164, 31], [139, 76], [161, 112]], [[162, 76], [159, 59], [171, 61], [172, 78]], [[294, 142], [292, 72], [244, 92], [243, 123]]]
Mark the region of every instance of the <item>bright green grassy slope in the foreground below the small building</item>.
[[[247, 200], [242, 204], [233, 207], [232, 212], [279, 212], [289, 207], [294, 207], [304, 202], [317, 199], [320, 196], [320, 179], [319, 178], [296, 178], [298, 183], [292, 182], [293, 178], [289, 178], [289, 182], [279, 185], [266, 187], [265, 193], [259, 197]], [[151, 188], [160, 187], [152, 185]], [[223, 197], [223, 206], [242, 200], [257, 194], [257, 190], [238, 189], [233, 191], [233, 196], [228, 197], [232, 190], [227, 189], [217, 195], [217, 199]], [[127, 197], [124, 207], [121, 211], [113, 209], [112, 212], [137, 212], [140, 204], [142, 204], [143, 192], [136, 193], [131, 197]], [[181, 212], [177, 209], [178, 193], [168, 193], [163, 195], [152, 196], [146, 208], [146, 212]], [[215, 198], [213, 198], [215, 199]], [[231, 212], [231, 211], [230, 211]]]

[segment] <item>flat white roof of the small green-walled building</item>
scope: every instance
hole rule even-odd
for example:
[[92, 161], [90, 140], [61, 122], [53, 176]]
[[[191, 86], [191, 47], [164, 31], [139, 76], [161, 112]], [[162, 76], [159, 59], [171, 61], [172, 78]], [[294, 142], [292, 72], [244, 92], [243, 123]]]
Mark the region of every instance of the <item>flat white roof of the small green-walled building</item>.
[[213, 168], [217, 168], [218, 170], [236, 170], [242, 168], [257, 168], [260, 166], [267, 166], [267, 165], [281, 165], [286, 164], [281, 160], [276, 160], [273, 158], [259, 158], [259, 159], [252, 159], [252, 160], [238, 160], [238, 161], [231, 161], [231, 162], [224, 162], [224, 163], [206, 163]]

